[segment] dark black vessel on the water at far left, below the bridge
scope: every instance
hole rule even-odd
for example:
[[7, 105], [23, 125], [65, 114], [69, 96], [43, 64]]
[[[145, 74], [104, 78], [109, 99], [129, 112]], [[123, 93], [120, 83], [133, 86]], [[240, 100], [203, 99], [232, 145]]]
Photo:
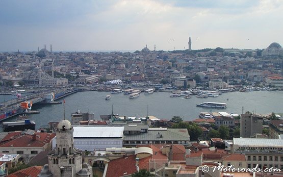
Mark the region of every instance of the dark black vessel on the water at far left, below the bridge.
[[24, 119], [24, 121], [3, 122], [4, 132], [24, 131], [26, 129], [35, 130], [35, 121]]

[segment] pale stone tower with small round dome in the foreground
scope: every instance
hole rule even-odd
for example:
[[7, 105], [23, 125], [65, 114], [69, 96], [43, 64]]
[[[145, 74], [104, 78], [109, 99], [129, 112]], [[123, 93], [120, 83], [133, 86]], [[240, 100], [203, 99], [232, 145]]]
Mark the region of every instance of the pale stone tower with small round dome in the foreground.
[[92, 167], [83, 168], [82, 151], [74, 149], [70, 121], [64, 119], [59, 122], [56, 130], [56, 148], [48, 154], [48, 166], [46, 164], [38, 176], [92, 176]]

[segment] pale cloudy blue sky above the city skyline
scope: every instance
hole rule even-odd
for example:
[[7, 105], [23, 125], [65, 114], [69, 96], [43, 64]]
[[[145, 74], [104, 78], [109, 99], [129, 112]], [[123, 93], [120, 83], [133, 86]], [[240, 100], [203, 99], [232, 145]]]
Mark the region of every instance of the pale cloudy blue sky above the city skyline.
[[0, 51], [266, 48], [282, 21], [282, 0], [2, 0]]

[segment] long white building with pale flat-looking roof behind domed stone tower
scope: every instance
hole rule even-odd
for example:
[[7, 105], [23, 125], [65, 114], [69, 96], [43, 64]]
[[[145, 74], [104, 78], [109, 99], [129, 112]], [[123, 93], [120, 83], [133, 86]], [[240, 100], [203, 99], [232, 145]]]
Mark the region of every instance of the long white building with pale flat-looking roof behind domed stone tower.
[[[82, 150], [105, 150], [123, 146], [124, 127], [74, 126], [74, 147]], [[52, 140], [55, 148], [56, 137]]]

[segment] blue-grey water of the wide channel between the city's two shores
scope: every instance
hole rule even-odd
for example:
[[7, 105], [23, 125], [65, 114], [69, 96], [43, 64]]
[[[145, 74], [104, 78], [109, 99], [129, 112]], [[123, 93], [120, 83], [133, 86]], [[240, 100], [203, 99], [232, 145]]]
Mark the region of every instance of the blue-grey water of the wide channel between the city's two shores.
[[[283, 91], [253, 91], [253, 92], [229, 92], [219, 97], [197, 98], [194, 95], [189, 99], [183, 97], [169, 97], [170, 93], [154, 92], [150, 95], [141, 93], [138, 98], [130, 99], [123, 93], [111, 94], [110, 100], [105, 96], [110, 92], [78, 92], [65, 97], [65, 116], [70, 120], [70, 114], [78, 109], [82, 112], [94, 113], [96, 119], [99, 115], [113, 113], [120, 116], [145, 117], [147, 105], [149, 115], [160, 119], [171, 119], [173, 116], [181, 116], [184, 120], [193, 120], [198, 117], [199, 112], [210, 112], [210, 108], [196, 107], [201, 102], [227, 103], [226, 109], [212, 109], [213, 112], [233, 112], [237, 114], [244, 112], [256, 112], [267, 114], [271, 112], [283, 113]], [[2, 96], [2, 95], [1, 95]], [[227, 100], [228, 98], [228, 100]], [[61, 100], [62, 101], [62, 100]], [[50, 121], [63, 119], [63, 105], [34, 105], [32, 110], [40, 111], [40, 114], [29, 115], [31, 120], [36, 121], [36, 129], [40, 125], [46, 125]], [[5, 121], [16, 120], [16, 117]]]

